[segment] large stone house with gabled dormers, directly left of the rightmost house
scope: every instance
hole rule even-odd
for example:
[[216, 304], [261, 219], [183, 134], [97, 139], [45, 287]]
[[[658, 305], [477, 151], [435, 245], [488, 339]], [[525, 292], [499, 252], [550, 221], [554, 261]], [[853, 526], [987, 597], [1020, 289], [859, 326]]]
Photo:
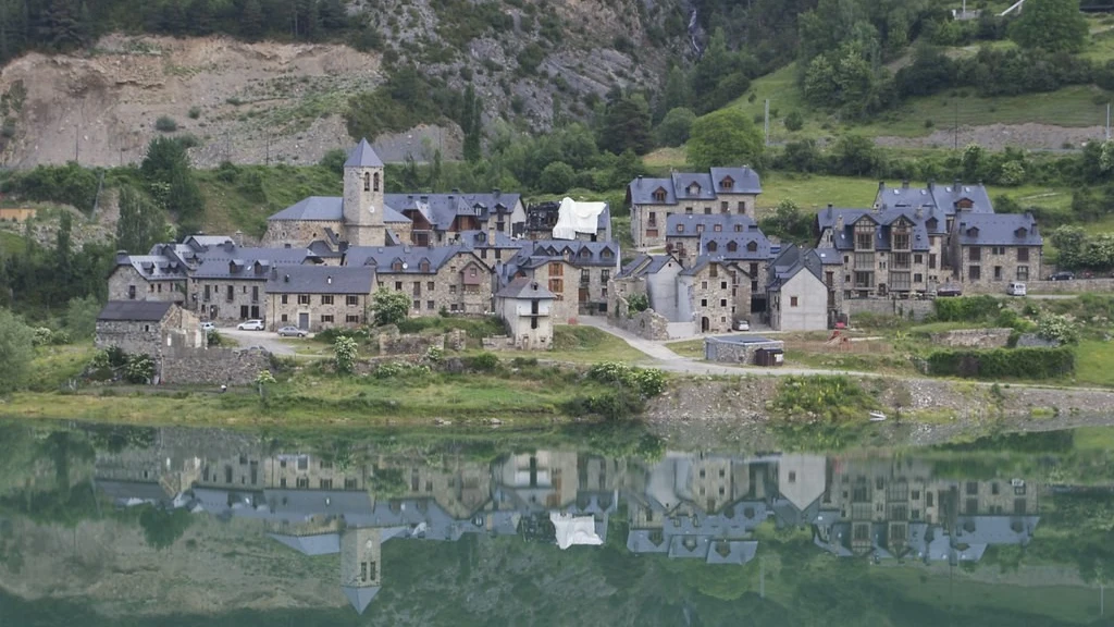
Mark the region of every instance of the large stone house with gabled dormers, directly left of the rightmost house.
[[841, 255], [844, 298], [935, 293], [950, 273], [948, 222], [935, 208], [829, 206], [817, 214], [817, 245]]

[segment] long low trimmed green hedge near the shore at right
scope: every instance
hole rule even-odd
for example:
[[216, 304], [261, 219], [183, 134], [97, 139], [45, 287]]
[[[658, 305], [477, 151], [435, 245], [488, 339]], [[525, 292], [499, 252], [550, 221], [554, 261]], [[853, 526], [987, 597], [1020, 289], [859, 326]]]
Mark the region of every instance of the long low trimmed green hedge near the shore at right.
[[937, 350], [928, 357], [928, 372], [984, 379], [1051, 379], [1075, 372], [1075, 353], [1064, 347]]

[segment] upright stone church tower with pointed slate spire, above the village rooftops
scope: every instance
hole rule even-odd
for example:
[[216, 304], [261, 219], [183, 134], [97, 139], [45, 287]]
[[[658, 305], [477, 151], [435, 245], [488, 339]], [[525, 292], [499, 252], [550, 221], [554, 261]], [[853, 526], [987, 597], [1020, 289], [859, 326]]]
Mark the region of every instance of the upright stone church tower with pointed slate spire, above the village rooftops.
[[361, 139], [344, 162], [344, 238], [352, 245], [384, 245], [383, 162]]

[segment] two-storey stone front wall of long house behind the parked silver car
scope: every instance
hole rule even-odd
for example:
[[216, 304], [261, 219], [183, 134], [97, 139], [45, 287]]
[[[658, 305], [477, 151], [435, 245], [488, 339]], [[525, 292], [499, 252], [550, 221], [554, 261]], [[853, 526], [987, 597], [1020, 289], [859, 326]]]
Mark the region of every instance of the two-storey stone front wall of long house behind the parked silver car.
[[317, 332], [364, 325], [370, 309], [370, 293], [267, 293], [264, 318], [268, 329], [277, 330], [302, 328], [304, 317], [305, 330]]

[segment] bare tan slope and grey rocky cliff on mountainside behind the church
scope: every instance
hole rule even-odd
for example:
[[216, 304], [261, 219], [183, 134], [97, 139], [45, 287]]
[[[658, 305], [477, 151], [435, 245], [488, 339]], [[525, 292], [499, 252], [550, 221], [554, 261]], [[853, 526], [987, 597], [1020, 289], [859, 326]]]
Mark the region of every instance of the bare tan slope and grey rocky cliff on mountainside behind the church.
[[[26, 55], [0, 73], [0, 164], [134, 163], [163, 133], [196, 136], [201, 166], [314, 163], [350, 143], [348, 99], [382, 83], [384, 57], [471, 84], [485, 124], [545, 132], [555, 112], [589, 116], [614, 85], [656, 86], [666, 58], [690, 50], [683, 27], [672, 41], [661, 27], [684, 23], [677, 0], [356, 0], [350, 11], [372, 16], [382, 51], [111, 35], [80, 55]], [[377, 141], [389, 161], [421, 160], [423, 146], [453, 157], [460, 144], [455, 124]]]

